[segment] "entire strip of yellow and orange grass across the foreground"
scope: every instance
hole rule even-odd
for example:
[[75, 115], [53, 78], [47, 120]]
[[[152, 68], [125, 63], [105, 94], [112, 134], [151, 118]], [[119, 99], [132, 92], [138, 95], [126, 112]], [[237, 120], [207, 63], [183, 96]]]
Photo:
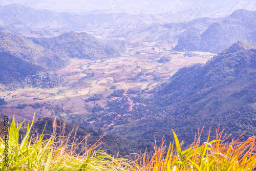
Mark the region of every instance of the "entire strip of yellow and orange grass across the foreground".
[[[65, 124], [59, 137], [55, 137], [56, 120], [53, 123], [51, 138], [44, 140], [44, 134], [30, 135], [31, 125], [27, 127], [26, 135], [20, 140], [19, 130], [23, 123], [15, 124], [13, 116], [9, 127], [8, 142], [8, 166], [5, 166], [4, 139], [0, 143], [0, 169], [1, 170], [253, 170], [256, 165], [255, 137], [241, 142], [242, 136], [231, 142], [226, 142], [227, 134], [216, 131], [216, 139], [195, 142], [184, 151], [175, 132], [174, 143], [160, 146], [155, 145], [155, 151], [151, 153], [131, 154], [133, 158], [118, 158], [106, 154], [104, 151], [96, 150], [100, 144], [90, 146], [84, 137], [81, 153], [76, 154], [78, 147], [75, 139], [78, 127], [64, 137]], [[210, 130], [209, 130], [210, 135]], [[20, 141], [19, 141], [20, 140]]]

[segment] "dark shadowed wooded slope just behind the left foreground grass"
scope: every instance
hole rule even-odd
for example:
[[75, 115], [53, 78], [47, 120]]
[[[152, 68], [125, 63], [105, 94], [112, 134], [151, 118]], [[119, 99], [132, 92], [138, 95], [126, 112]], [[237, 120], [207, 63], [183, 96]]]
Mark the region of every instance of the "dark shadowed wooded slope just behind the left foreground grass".
[[[44, 131], [45, 139], [51, 137], [51, 133], [53, 132], [53, 123], [54, 118], [41, 118], [33, 126], [32, 134], [41, 134]], [[130, 141], [120, 136], [113, 135], [110, 133], [105, 133], [102, 130], [94, 130], [92, 128], [79, 126], [72, 123], [67, 123], [61, 119], [56, 120], [57, 129], [56, 134], [57, 137], [62, 136], [75, 136], [77, 139], [77, 143], [83, 142], [83, 139], [87, 137], [87, 145], [92, 146], [99, 145], [97, 149], [101, 148], [105, 150], [110, 155], [119, 154], [119, 156], [130, 155], [131, 153], [140, 153], [147, 151], [153, 151], [154, 144], [145, 139], [137, 139], [134, 141]], [[45, 127], [45, 130], [44, 130]], [[23, 127], [21, 134], [26, 133], [26, 126]], [[99, 141], [98, 141], [99, 140]], [[81, 143], [77, 148], [77, 153], [81, 153], [80, 150], [84, 145]]]

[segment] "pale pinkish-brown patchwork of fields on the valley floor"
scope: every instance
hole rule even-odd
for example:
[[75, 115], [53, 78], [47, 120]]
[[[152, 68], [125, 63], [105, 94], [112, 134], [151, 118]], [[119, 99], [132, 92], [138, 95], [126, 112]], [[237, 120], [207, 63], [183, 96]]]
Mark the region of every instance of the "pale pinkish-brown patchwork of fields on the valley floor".
[[[18, 120], [31, 119], [34, 112], [37, 118], [54, 115], [63, 118], [74, 115], [87, 116], [93, 113], [95, 106], [106, 108], [108, 100], [111, 99], [109, 96], [115, 89], [125, 91], [127, 88], [128, 93], [130, 89], [130, 94], [133, 91], [138, 93], [142, 90], [152, 90], [178, 69], [193, 63], [205, 63], [214, 55], [205, 52], [174, 53], [169, 49], [170, 45], [154, 47], [153, 42], [145, 44], [144, 47], [127, 49], [118, 58], [95, 61], [72, 59], [69, 66], [57, 72], [69, 81], [66, 87], [1, 92], [0, 97], [8, 102], [8, 109], [3, 108], [1, 112], [9, 116], [15, 112]], [[162, 57], [170, 60], [158, 62]], [[96, 101], [88, 100], [96, 94], [101, 95], [101, 98]]]

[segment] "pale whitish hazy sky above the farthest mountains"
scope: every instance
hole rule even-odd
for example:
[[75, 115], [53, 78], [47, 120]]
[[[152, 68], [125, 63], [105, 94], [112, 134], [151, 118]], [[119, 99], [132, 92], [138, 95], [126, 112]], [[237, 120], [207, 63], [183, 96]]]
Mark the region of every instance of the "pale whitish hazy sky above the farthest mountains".
[[18, 3], [37, 9], [83, 13], [93, 10], [126, 13], [207, 13], [228, 15], [236, 9], [256, 10], [255, 0], [0, 0], [0, 5]]

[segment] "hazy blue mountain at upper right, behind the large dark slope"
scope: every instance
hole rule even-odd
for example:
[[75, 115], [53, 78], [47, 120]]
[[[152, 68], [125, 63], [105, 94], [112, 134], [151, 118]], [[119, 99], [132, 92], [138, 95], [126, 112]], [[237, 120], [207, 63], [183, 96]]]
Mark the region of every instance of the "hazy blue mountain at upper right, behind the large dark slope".
[[200, 30], [184, 32], [173, 50], [217, 53], [238, 40], [256, 43], [255, 28], [256, 11], [236, 10], [212, 23], [203, 33]]

